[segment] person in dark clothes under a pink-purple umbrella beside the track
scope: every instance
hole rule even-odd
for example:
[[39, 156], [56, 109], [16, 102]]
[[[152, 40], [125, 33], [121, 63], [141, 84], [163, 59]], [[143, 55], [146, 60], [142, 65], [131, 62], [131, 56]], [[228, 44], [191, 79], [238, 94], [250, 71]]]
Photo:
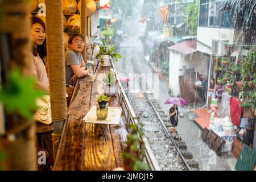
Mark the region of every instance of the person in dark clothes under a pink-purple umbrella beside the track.
[[165, 104], [172, 104], [172, 107], [169, 110], [170, 122], [172, 124], [172, 127], [169, 127], [168, 129], [172, 132], [172, 137], [176, 137], [178, 115], [179, 115], [179, 109], [177, 105], [184, 106], [184, 105], [187, 105], [188, 102], [180, 97], [171, 97], [167, 99]]

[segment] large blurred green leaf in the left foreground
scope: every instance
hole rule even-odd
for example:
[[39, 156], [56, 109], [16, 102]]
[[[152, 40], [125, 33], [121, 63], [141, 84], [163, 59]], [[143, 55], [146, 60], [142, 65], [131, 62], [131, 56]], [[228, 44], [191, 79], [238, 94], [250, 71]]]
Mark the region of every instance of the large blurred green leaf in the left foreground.
[[7, 113], [19, 113], [25, 119], [31, 119], [36, 110], [36, 98], [43, 96], [35, 90], [36, 80], [24, 77], [18, 69], [14, 69], [7, 76], [6, 84], [0, 90], [0, 102], [5, 106]]

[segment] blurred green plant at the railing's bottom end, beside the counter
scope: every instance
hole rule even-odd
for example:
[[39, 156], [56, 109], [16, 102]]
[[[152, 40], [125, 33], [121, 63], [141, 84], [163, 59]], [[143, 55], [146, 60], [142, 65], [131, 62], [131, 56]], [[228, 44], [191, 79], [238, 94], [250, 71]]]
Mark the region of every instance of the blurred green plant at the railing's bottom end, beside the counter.
[[150, 170], [147, 163], [143, 162], [145, 154], [144, 143], [139, 139], [143, 136], [143, 123], [139, 125], [128, 124], [130, 133], [127, 135], [126, 148], [122, 154], [123, 162], [126, 170], [142, 171]]

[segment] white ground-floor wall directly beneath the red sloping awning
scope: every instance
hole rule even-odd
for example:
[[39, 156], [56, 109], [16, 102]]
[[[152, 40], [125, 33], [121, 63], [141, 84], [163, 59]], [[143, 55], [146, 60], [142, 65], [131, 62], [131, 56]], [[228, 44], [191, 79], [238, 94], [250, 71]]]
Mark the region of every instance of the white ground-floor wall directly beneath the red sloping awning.
[[187, 69], [194, 68], [195, 72], [208, 77], [209, 60], [203, 59], [203, 53], [194, 52], [189, 55], [181, 55], [179, 52], [170, 51], [169, 62], [169, 88], [174, 96], [180, 95], [179, 76], [183, 75], [183, 66]]

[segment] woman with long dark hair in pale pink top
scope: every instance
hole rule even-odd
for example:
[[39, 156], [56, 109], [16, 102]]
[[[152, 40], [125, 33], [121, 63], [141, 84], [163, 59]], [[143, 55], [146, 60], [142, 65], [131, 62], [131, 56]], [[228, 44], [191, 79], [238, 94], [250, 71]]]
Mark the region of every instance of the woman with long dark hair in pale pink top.
[[43, 58], [46, 56], [46, 26], [42, 19], [32, 17], [30, 29], [32, 40], [32, 61], [30, 65], [30, 75], [34, 76], [36, 86], [49, 94], [49, 82]]

